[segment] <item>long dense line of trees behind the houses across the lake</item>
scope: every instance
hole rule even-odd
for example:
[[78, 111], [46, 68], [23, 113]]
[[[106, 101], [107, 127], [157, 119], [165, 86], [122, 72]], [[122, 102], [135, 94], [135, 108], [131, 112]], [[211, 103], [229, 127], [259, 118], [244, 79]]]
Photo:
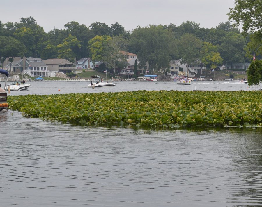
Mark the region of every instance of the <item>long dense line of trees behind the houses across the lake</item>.
[[[229, 18], [236, 21], [238, 13], [237, 8], [231, 9]], [[33, 17], [20, 18], [15, 23], [0, 21], [0, 57], [1, 62], [22, 56], [43, 60], [66, 58], [72, 62], [90, 57], [92, 61], [105, 62], [109, 70], [115, 71], [125, 63], [121, 51], [128, 51], [138, 55], [140, 65], [148, 62], [150, 73], [168, 70], [169, 62], [180, 58], [182, 63], [201, 62], [213, 69], [222, 64], [251, 62], [253, 51], [260, 57], [261, 33], [249, 31], [246, 25], [241, 33], [236, 26], [237, 21], [235, 24], [228, 21], [209, 29], [186, 21], [179, 26], [172, 23], [137, 26], [130, 32], [118, 22], [111, 26], [95, 22], [87, 27], [71, 21], [64, 29], [44, 32]]]

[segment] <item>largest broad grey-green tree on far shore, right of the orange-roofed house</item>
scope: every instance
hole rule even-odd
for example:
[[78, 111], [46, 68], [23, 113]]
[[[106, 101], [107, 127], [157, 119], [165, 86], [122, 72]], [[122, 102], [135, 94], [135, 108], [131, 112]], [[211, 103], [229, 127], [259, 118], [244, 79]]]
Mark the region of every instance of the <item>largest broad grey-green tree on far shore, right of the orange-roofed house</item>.
[[173, 34], [162, 25], [137, 27], [130, 35], [130, 48], [137, 54], [139, 65], [148, 62], [149, 72], [169, 69], [171, 51], [174, 46]]

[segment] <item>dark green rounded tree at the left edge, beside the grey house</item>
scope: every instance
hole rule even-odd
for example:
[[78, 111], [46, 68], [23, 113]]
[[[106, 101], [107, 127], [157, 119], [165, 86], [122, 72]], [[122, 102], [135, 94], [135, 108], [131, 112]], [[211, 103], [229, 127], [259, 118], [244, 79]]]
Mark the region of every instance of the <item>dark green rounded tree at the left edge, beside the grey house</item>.
[[[0, 57], [4, 62], [8, 57], [23, 57], [26, 53], [24, 44], [13, 37], [0, 36]], [[3, 68], [3, 65], [2, 65]]]

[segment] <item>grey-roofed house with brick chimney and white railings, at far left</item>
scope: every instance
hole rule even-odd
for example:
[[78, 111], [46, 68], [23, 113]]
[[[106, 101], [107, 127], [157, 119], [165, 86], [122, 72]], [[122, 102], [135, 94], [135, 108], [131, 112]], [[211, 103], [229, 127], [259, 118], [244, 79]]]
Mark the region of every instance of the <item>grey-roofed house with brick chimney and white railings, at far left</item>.
[[11, 72], [27, 74], [31, 77], [49, 77], [49, 70], [47, 70], [47, 65], [40, 58], [13, 58], [14, 61], [8, 62], [4, 67], [6, 69], [10, 68]]

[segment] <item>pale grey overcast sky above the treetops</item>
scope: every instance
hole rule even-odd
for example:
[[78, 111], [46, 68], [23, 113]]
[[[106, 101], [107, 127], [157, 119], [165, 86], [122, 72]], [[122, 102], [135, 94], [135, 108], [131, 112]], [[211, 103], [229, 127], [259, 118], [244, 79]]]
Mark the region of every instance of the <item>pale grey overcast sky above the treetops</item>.
[[45, 32], [63, 29], [70, 21], [87, 27], [94, 22], [118, 22], [125, 30], [137, 26], [180, 25], [194, 21], [211, 28], [228, 21], [235, 0], [9, 0], [1, 1], [0, 21], [20, 22], [34, 17]]

